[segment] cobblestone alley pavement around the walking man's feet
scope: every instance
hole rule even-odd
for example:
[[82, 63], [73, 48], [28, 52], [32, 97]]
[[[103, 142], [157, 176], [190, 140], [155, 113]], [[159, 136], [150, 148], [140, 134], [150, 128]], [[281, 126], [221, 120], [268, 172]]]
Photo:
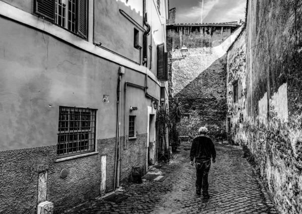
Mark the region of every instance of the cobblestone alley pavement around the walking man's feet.
[[[243, 158], [239, 147], [215, 144], [216, 163], [209, 173], [209, 200], [195, 193], [195, 165], [189, 164], [190, 145], [183, 145], [170, 164], [158, 167], [163, 182], [144, 180], [123, 186], [130, 197], [114, 203], [98, 197], [73, 213], [277, 213], [263, 184]], [[150, 170], [157, 171], [156, 168]]]

